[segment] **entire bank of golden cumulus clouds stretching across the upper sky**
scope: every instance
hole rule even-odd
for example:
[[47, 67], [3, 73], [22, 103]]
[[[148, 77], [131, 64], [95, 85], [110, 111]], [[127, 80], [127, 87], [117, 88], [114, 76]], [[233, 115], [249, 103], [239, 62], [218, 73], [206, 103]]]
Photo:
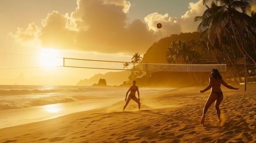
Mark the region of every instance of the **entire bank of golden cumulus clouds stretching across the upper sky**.
[[[162, 37], [180, 32], [194, 32], [195, 16], [202, 15], [202, 0], [190, 3], [182, 18], [168, 13], [150, 13], [142, 20], [129, 21], [130, 2], [126, 0], [77, 0], [76, 11], [61, 14], [52, 11], [42, 20], [42, 28], [34, 23], [18, 28], [13, 37], [19, 42], [40, 41], [44, 48], [98, 53], [145, 53]], [[157, 29], [156, 24], [162, 23]]]

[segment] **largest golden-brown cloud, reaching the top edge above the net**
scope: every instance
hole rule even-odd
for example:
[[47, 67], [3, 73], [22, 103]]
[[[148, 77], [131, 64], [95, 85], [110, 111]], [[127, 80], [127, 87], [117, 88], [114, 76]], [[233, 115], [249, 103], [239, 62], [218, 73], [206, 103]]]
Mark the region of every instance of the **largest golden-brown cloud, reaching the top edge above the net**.
[[145, 52], [157, 37], [141, 20], [128, 23], [123, 7], [101, 1], [80, 1], [71, 14], [79, 33], [77, 47], [103, 53]]

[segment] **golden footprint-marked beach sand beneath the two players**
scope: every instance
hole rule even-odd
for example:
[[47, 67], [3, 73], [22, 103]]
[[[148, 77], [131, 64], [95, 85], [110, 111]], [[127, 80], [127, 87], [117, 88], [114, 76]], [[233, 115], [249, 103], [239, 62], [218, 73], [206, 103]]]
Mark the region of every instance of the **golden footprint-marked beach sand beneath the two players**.
[[[222, 86], [222, 123], [214, 105], [205, 125], [200, 118], [210, 90], [177, 88], [141, 95], [141, 110], [130, 101], [108, 108], [67, 114], [54, 119], [0, 129], [0, 143], [256, 143], [256, 85]], [[125, 98], [125, 97], [124, 97]]]

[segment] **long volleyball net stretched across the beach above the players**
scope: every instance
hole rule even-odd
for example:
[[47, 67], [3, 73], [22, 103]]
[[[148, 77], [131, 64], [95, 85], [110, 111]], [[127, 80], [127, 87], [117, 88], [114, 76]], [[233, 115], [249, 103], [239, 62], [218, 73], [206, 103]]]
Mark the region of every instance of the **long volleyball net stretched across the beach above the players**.
[[227, 71], [226, 64], [151, 64], [135, 62], [102, 61], [91, 59], [73, 59], [63, 57], [63, 66], [73, 68], [94, 68], [109, 70], [145, 70], [145, 71]]

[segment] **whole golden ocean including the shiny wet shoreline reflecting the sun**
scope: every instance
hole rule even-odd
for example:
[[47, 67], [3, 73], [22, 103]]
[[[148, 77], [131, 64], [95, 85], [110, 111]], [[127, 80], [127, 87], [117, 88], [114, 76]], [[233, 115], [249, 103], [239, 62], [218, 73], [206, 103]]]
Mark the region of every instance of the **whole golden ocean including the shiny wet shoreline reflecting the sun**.
[[[0, 128], [104, 108], [120, 101], [125, 103], [127, 90], [92, 86], [0, 85]], [[139, 88], [141, 98], [163, 90], [170, 88]]]

